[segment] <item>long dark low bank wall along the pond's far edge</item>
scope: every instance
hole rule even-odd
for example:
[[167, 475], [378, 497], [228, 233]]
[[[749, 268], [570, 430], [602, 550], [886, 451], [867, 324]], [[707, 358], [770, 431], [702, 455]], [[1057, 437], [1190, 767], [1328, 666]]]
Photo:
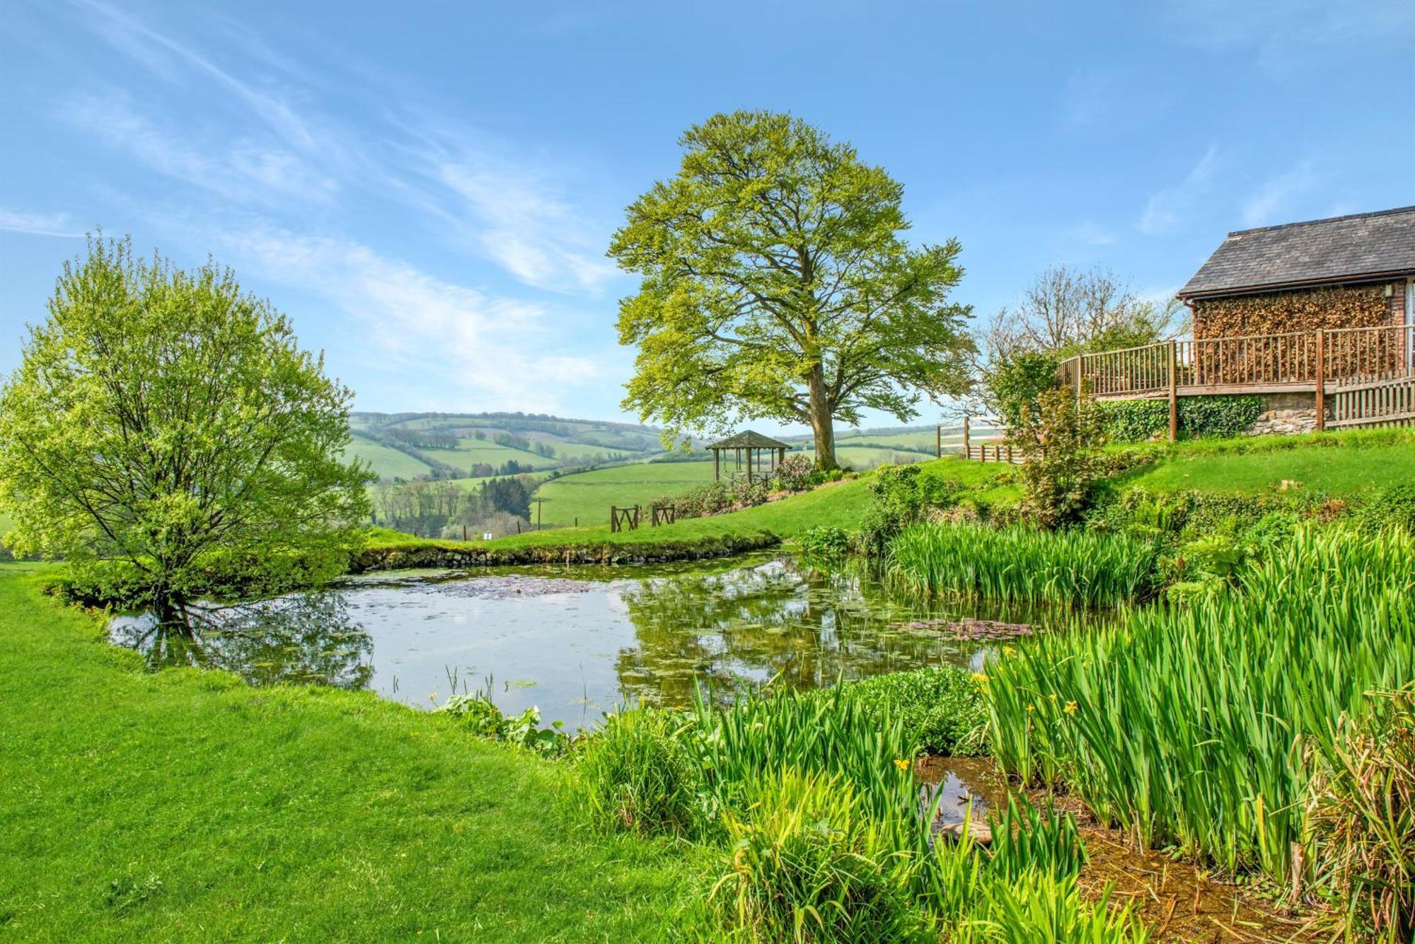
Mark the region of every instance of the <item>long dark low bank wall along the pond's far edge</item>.
[[507, 564], [666, 564], [730, 557], [775, 547], [770, 531], [729, 534], [691, 541], [608, 541], [587, 544], [536, 544], [480, 547], [461, 544], [406, 544], [365, 548], [350, 561], [351, 574], [412, 568], [501, 567]]

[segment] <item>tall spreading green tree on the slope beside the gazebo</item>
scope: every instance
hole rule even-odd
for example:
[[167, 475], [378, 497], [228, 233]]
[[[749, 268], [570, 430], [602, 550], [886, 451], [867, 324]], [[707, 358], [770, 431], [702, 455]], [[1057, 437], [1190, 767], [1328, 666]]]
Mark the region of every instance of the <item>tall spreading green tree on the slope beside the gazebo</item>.
[[669, 435], [807, 423], [835, 468], [835, 420], [900, 420], [968, 386], [959, 246], [910, 247], [903, 187], [790, 114], [691, 127], [678, 174], [628, 208], [610, 256], [642, 276], [620, 302], [638, 346], [625, 408]]

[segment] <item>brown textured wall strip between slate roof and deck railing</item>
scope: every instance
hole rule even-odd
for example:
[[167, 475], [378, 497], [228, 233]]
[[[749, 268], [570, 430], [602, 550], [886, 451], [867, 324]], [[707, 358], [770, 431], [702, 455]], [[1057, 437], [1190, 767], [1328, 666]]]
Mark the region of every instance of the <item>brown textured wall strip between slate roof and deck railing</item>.
[[1399, 325], [1405, 321], [1405, 283], [1199, 298], [1193, 309], [1194, 338]]

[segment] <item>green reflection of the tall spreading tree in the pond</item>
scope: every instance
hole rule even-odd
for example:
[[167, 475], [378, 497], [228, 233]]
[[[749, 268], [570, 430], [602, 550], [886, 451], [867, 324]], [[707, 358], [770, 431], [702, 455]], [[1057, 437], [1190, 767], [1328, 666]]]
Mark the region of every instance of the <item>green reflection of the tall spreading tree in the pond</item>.
[[621, 598], [638, 646], [620, 650], [630, 704], [682, 705], [696, 684], [727, 701], [743, 684], [831, 685], [923, 664], [975, 664], [985, 649], [897, 626], [921, 615], [860, 568], [773, 561], [720, 574], [649, 578]]

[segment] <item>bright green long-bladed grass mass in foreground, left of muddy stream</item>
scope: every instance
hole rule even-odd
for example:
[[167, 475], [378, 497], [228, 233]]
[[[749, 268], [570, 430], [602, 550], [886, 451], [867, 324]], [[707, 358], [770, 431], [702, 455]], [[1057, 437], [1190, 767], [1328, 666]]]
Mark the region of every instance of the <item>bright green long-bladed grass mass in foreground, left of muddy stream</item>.
[[576, 801], [600, 827], [717, 852], [685, 934], [712, 941], [1131, 941], [1082, 902], [1070, 818], [1016, 803], [998, 851], [934, 841], [914, 749], [859, 685], [613, 715], [579, 745]]

